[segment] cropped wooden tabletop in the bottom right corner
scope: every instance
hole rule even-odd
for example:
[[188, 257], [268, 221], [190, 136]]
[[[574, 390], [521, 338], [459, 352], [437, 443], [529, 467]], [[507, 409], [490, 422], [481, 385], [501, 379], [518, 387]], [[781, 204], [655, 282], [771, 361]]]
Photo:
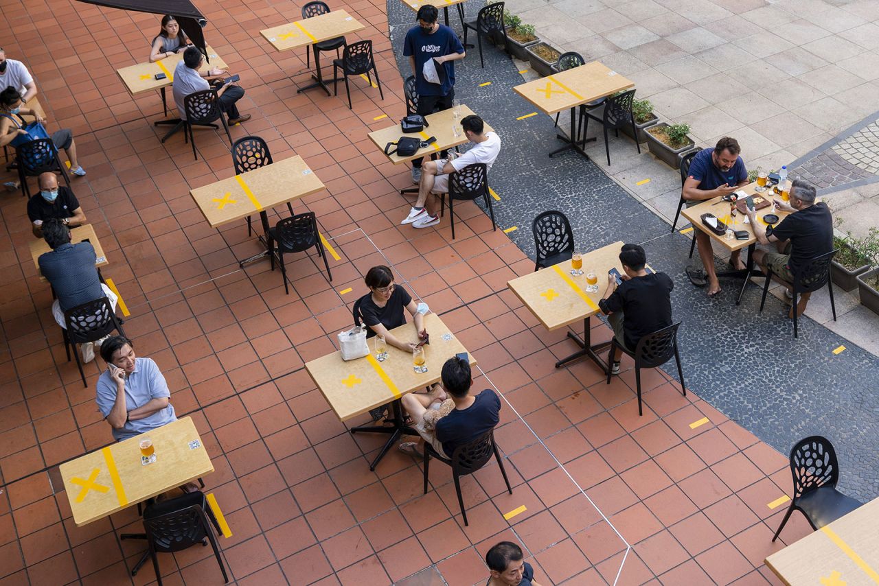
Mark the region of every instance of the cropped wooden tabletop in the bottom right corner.
[[879, 583], [876, 525], [879, 498], [773, 553], [766, 566], [788, 586]]

